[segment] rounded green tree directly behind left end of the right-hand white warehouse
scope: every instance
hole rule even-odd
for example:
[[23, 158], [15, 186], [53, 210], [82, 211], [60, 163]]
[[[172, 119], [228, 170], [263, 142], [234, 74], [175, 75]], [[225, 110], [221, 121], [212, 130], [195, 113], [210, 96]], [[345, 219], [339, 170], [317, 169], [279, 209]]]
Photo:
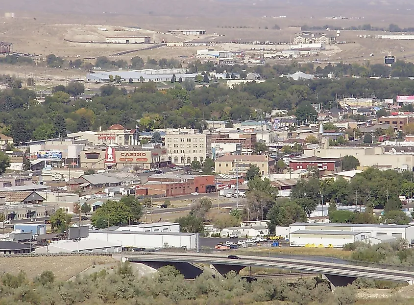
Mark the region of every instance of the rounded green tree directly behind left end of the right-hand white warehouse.
[[268, 211], [267, 219], [270, 220], [270, 232], [274, 234], [276, 226], [289, 226], [294, 222], [306, 222], [306, 212], [301, 206], [292, 200], [281, 200]]

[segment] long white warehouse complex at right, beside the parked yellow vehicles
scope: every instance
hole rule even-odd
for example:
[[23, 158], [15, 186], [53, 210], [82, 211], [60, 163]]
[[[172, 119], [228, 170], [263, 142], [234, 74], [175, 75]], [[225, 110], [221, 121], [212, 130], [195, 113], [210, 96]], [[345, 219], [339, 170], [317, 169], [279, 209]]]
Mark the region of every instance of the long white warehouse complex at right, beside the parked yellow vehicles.
[[[308, 231], [309, 233], [303, 233]], [[333, 232], [338, 232], [336, 234], [332, 234]], [[343, 235], [341, 235], [341, 233]], [[358, 233], [353, 235], [351, 233]], [[355, 236], [355, 241], [362, 240], [368, 237], [377, 237], [377, 236], [392, 236], [396, 239], [403, 238], [406, 239], [410, 244], [414, 243], [414, 226], [412, 225], [377, 225], [377, 224], [343, 224], [343, 223], [303, 223], [303, 222], [296, 222], [289, 226], [289, 236], [290, 236], [290, 243], [292, 245], [302, 245], [303, 242], [303, 235], [307, 234], [307, 238], [311, 240], [312, 238], [323, 237], [323, 242], [319, 242], [318, 244], [323, 245], [334, 245], [340, 246], [337, 242], [338, 236], [341, 235], [342, 240], [345, 240], [344, 234], [353, 235]], [[301, 237], [301, 241], [299, 241], [298, 237]], [[322, 235], [322, 236], [321, 236]], [[335, 238], [333, 236], [336, 236]], [[364, 237], [364, 238], [362, 238]], [[345, 238], [345, 239], [344, 239]], [[350, 237], [347, 237], [350, 239]], [[318, 239], [321, 240], [320, 238]], [[353, 241], [351, 241], [353, 242]], [[314, 243], [314, 242], [312, 242]], [[305, 243], [306, 244], [306, 243]]]

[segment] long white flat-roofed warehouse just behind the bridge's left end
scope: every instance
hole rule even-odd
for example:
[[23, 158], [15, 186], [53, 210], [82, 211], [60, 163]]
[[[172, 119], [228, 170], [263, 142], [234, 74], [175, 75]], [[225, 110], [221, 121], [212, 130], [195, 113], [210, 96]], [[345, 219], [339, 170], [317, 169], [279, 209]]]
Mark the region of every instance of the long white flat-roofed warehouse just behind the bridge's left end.
[[198, 233], [137, 232], [137, 231], [89, 231], [90, 239], [121, 243], [122, 247], [162, 249], [198, 249]]

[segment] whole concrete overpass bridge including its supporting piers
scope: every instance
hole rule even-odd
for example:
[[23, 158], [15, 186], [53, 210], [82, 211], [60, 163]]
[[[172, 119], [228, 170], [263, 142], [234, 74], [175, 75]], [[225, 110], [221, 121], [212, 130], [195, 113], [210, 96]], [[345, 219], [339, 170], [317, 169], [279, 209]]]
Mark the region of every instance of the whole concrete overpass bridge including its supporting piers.
[[[360, 265], [357, 262], [340, 259], [312, 257], [259, 257], [239, 256], [240, 259], [227, 258], [227, 255], [202, 253], [140, 253], [122, 254], [122, 260], [140, 262], [154, 268], [165, 265], [175, 266], [186, 278], [195, 278], [202, 270], [195, 263], [214, 266], [221, 274], [234, 270], [239, 273], [244, 267], [278, 268], [322, 274], [332, 286], [342, 286], [357, 278], [414, 283], [414, 271], [390, 269], [389, 266], [374, 264]], [[325, 260], [325, 261], [323, 261]], [[395, 267], [397, 268], [397, 267]]]

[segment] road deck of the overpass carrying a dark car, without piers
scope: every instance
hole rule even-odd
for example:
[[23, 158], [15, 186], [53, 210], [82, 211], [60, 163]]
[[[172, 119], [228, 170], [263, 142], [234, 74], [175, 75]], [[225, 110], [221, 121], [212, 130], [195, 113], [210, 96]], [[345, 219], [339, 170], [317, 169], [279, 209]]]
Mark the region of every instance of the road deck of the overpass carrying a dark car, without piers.
[[378, 266], [367, 267], [352, 264], [352, 262], [347, 262], [346, 264], [322, 262], [311, 259], [297, 259], [293, 256], [292, 258], [239, 256], [240, 259], [231, 259], [227, 258], [227, 255], [216, 254], [157, 253], [137, 255], [126, 254], [122, 255], [122, 257], [134, 262], [192, 262], [229, 266], [273, 267], [345, 278], [366, 278], [394, 282], [408, 282], [409, 284], [413, 284], [414, 281], [413, 271], [393, 270], [390, 269], [389, 266], [384, 266], [384, 268], [379, 268]]

